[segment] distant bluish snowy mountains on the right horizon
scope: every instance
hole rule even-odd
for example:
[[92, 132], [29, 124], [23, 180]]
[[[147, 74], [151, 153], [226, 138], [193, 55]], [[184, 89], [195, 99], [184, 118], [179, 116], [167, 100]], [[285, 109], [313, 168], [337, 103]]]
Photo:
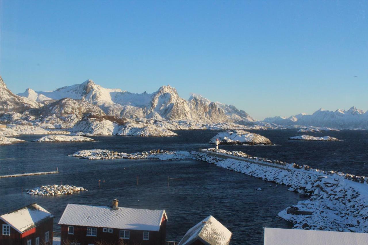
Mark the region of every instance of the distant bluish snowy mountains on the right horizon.
[[312, 115], [305, 113], [296, 116], [286, 117], [268, 117], [263, 120], [267, 123], [278, 125], [304, 125], [314, 127], [330, 128], [365, 128], [368, 129], [368, 111], [351, 107], [349, 110], [337, 109], [328, 111], [319, 109]]

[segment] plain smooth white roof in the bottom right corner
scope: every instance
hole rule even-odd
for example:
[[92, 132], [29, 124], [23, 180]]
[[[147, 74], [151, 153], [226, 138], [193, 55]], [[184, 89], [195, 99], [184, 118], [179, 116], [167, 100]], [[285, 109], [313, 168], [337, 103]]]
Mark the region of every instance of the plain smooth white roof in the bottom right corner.
[[314, 231], [265, 228], [265, 245], [358, 245], [368, 244], [368, 234], [340, 231]]

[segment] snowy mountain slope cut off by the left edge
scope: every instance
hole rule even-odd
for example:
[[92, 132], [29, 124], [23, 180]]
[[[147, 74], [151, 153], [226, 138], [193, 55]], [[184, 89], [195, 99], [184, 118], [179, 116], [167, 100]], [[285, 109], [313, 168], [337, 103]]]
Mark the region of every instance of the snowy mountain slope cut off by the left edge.
[[8, 111], [21, 112], [29, 108], [39, 108], [42, 104], [35, 100], [14, 95], [5, 85], [3, 78], [0, 76], [0, 114]]

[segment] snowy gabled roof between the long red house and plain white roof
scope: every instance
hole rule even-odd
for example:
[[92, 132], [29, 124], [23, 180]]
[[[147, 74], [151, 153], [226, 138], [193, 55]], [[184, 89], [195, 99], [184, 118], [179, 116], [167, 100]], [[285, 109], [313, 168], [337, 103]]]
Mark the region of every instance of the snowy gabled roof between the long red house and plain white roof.
[[230, 239], [231, 231], [210, 215], [190, 228], [178, 245], [192, 244], [196, 240], [203, 244], [228, 245]]

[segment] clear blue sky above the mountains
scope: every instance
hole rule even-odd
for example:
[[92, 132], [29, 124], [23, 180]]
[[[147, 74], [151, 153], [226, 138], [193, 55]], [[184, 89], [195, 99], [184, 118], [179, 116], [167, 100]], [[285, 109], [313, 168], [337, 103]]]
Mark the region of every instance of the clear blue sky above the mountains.
[[368, 110], [367, 0], [0, 2], [0, 74], [15, 93], [92, 79], [170, 84], [260, 120]]

